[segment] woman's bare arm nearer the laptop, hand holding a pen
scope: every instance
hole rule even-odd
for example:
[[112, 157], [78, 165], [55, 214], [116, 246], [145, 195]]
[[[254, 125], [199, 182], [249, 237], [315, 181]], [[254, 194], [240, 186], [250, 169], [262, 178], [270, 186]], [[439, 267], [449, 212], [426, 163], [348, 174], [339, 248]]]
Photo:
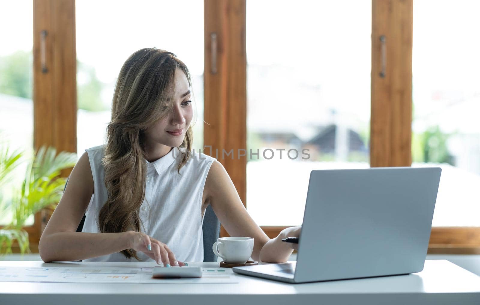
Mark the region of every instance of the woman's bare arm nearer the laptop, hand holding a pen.
[[282, 242], [281, 238], [298, 237], [300, 227], [287, 228], [274, 239], [268, 238], [243, 206], [230, 176], [217, 160], [210, 167], [204, 192], [206, 192], [206, 202], [212, 205], [216, 217], [230, 236], [245, 236], [255, 239], [252, 253], [254, 260], [285, 262], [296, 248], [296, 244]]

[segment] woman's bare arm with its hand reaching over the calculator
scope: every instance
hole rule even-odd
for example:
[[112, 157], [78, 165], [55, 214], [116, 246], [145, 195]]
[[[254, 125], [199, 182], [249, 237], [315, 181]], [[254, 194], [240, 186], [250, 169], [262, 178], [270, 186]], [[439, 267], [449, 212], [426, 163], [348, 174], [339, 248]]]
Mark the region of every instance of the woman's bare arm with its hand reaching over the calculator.
[[167, 245], [140, 232], [75, 232], [93, 193], [93, 176], [85, 152], [73, 167], [67, 188], [40, 237], [38, 252], [44, 262], [96, 258], [133, 248], [145, 252], [157, 263], [175, 265], [175, 256]]

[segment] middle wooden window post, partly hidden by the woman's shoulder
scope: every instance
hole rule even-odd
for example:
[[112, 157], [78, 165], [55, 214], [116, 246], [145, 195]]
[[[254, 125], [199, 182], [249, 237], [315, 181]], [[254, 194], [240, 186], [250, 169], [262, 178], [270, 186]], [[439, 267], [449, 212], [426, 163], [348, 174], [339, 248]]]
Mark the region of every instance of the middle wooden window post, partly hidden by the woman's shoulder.
[[[204, 145], [212, 147], [205, 153], [223, 164], [244, 205], [247, 159], [237, 156], [247, 148], [245, 11], [245, 0], [205, 0]], [[234, 159], [222, 158], [223, 149]]]

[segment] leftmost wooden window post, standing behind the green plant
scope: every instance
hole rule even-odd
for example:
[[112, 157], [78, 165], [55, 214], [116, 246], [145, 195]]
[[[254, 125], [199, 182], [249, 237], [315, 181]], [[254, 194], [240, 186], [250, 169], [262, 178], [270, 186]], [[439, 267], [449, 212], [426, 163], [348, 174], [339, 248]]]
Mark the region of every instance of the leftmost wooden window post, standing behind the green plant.
[[[75, 0], [34, 0], [34, 148], [77, 151]], [[63, 173], [67, 176], [70, 171]], [[26, 228], [34, 246], [48, 213], [37, 213]]]

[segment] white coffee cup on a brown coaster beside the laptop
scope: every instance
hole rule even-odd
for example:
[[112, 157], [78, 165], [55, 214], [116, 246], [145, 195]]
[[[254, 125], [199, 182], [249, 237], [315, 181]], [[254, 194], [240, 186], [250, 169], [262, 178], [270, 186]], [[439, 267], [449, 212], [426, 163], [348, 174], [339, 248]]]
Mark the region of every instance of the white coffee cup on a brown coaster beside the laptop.
[[252, 237], [220, 237], [213, 244], [213, 253], [229, 264], [245, 264], [253, 253]]

